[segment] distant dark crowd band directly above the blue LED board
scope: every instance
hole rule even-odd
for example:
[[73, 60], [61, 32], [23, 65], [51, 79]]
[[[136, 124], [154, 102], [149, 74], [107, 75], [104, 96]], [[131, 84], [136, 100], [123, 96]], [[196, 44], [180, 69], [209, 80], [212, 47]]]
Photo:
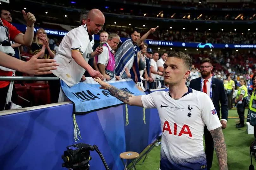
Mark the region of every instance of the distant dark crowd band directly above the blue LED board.
[[[108, 33], [116, 33], [120, 37], [130, 38], [130, 28], [108, 27], [103, 28]], [[221, 31], [221, 30], [220, 30]], [[141, 35], [146, 32], [143, 30]], [[255, 44], [255, 32], [186, 32], [158, 29], [154, 34], [149, 35], [148, 39], [177, 41], [177, 42], [203, 42], [220, 44]]]

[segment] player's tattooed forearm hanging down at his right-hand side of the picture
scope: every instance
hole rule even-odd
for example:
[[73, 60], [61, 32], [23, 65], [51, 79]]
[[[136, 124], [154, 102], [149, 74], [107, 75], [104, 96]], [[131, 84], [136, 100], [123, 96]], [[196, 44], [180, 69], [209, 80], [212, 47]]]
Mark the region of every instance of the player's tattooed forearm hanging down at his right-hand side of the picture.
[[227, 147], [221, 127], [210, 131], [213, 138], [215, 152], [219, 161], [220, 170], [228, 169]]

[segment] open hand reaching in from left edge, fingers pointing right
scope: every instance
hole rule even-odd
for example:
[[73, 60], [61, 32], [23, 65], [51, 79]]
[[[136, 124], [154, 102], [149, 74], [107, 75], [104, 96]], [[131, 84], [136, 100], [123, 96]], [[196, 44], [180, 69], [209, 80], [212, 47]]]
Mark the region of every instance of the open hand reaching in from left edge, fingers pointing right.
[[56, 70], [59, 64], [53, 59], [37, 59], [40, 56], [40, 52], [32, 56], [30, 60], [25, 62], [21, 72], [30, 75], [42, 75], [51, 74], [50, 70]]

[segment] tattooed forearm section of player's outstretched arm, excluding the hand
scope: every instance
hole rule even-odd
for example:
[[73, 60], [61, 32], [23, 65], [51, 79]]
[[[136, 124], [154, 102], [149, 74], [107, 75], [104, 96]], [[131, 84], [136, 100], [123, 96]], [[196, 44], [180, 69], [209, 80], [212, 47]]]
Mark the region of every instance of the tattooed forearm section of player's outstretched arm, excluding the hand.
[[130, 100], [129, 98], [132, 97], [133, 95], [131, 95], [131, 93], [128, 93], [126, 91], [122, 91], [112, 85], [110, 85], [107, 90], [116, 98], [118, 98], [119, 100], [121, 100], [124, 103], [129, 104]]

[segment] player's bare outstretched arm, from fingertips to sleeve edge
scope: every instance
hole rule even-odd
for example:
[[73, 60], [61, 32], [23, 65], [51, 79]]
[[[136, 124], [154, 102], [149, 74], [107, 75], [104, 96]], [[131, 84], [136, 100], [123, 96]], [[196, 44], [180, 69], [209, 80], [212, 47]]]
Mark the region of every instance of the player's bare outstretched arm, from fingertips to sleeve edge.
[[114, 87], [113, 85], [110, 85], [110, 84], [102, 81], [99, 77], [97, 77], [97, 79], [94, 78], [94, 80], [101, 85], [100, 89], [108, 90], [113, 96], [115, 96], [122, 102], [127, 103], [131, 106], [134, 105], [134, 106], [143, 107], [143, 104], [141, 102], [141, 96], [134, 96], [131, 93], [122, 91], [122, 90]]

